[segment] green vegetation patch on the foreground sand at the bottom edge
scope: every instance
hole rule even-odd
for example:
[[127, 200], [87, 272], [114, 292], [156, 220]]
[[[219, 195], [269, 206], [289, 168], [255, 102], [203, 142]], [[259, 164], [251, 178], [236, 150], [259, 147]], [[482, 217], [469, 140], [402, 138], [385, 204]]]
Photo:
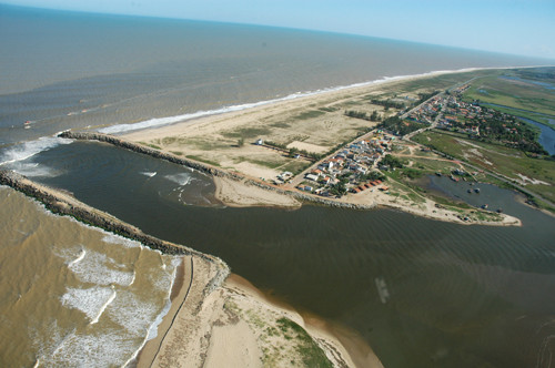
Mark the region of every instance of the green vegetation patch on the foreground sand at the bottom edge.
[[325, 356], [324, 351], [310, 337], [309, 334], [289, 318], [282, 317], [278, 319], [278, 328], [282, 331], [285, 339], [294, 339], [297, 344], [296, 350], [301, 355], [305, 367], [332, 368], [333, 365]]

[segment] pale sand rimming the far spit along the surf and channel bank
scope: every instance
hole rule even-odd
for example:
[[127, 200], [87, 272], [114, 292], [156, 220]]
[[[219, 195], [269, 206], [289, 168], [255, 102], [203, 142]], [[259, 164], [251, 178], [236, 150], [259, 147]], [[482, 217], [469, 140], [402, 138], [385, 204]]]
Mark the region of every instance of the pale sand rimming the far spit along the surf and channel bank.
[[[306, 194], [305, 192], [299, 191], [293, 185], [272, 185], [272, 178], [275, 178], [276, 175], [280, 174], [280, 168], [273, 168], [273, 166], [287, 167], [290, 164], [283, 163], [283, 161], [280, 162], [279, 160], [282, 159], [279, 154], [269, 152], [271, 150], [260, 147], [254, 143], [234, 146], [232, 141], [229, 139], [226, 140], [226, 136], [231, 134], [230, 132], [233, 133], [248, 130], [264, 132], [272, 126], [284, 124], [275, 120], [271, 121], [271, 123], [261, 123], [268, 119], [268, 116], [280, 116], [279, 119], [283, 119], [284, 122], [287, 122], [287, 119], [291, 117], [286, 116], [291, 114], [291, 111], [295, 111], [296, 114], [299, 114], [300, 111], [301, 113], [303, 111], [320, 113], [319, 111], [325, 110], [325, 106], [335, 105], [337, 101], [346, 101], [360, 95], [376, 95], [383, 93], [383, 91], [391, 92], [392, 89], [396, 88], [400, 83], [426, 80], [443, 74], [467, 73], [488, 69], [490, 68], [473, 68], [453, 71], [434, 71], [390, 79], [384, 78], [373, 82], [329, 89], [317, 93], [300, 94], [291, 99], [264, 101], [253, 103], [249, 106], [242, 105], [246, 108], [206, 116], [196, 116], [192, 120], [185, 119], [184, 121], [174, 122], [170, 125], [127, 132], [128, 127], [137, 126], [130, 125], [125, 129], [122, 127], [123, 131], [121, 133], [123, 134], [119, 136], [137, 144], [145, 144], [152, 147], [155, 146], [164, 154], [181, 155], [188, 157], [188, 160], [201, 160], [201, 164], [205, 164], [214, 170], [231, 173], [235, 176], [231, 180], [222, 177], [221, 175], [215, 177], [214, 175], [214, 183], [216, 185], [215, 197], [226, 206], [271, 206], [290, 209], [299, 208], [301, 203], [327, 204], [359, 209], [382, 206], [426, 218], [464, 225], [521, 226], [522, 223], [518, 218], [506, 214], [498, 215], [498, 218], [495, 221], [481, 221], [472, 218], [473, 216], [468, 216], [467, 214], [461, 214], [456, 211], [438, 206], [430, 198], [426, 198], [423, 203], [414, 203], [404, 201], [402, 196], [392, 197], [385, 195], [377, 190], [369, 190], [355, 195], [349, 194], [346, 197], [335, 200], [333, 197], [323, 198], [317, 195]], [[322, 109], [322, 106], [324, 108]], [[299, 123], [304, 124], [305, 122]], [[324, 125], [327, 122], [324, 122]], [[284, 126], [286, 126], [286, 124]], [[359, 126], [357, 129], [361, 127]], [[287, 134], [283, 133], [283, 131], [286, 131], [286, 129], [276, 134]], [[337, 132], [337, 127], [334, 127], [329, 134], [333, 134], [334, 132]], [[312, 133], [309, 130], [305, 134], [309, 136]], [[199, 143], [199, 140], [203, 141]], [[224, 144], [224, 141], [229, 143]], [[203, 147], [198, 149], [195, 145], [199, 144]], [[327, 144], [330, 145], [333, 143]], [[325, 149], [325, 151], [329, 149]], [[279, 163], [273, 164], [275, 161]], [[256, 164], [256, 162], [263, 162], [264, 164]]]

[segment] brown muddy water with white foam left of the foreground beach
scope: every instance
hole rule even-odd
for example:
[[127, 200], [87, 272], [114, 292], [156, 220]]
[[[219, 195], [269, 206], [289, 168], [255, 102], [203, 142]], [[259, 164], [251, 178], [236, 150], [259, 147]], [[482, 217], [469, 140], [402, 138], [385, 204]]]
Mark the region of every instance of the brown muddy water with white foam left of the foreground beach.
[[125, 365], [155, 335], [180, 258], [8, 187], [0, 205], [0, 366]]

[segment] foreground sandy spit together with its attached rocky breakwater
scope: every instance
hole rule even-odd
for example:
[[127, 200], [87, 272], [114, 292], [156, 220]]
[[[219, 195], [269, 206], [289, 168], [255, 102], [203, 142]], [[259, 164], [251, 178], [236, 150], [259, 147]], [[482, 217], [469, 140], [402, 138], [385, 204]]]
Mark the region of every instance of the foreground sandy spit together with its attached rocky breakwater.
[[305, 320], [291, 307], [272, 303], [246, 280], [230, 277], [230, 268], [218, 257], [144, 234], [12, 171], [0, 171], [0, 184], [36, 198], [56, 214], [182, 257], [170, 310], [157, 337], [135, 358], [138, 367], [382, 367], [355, 333], [339, 328], [335, 335], [325, 321]]

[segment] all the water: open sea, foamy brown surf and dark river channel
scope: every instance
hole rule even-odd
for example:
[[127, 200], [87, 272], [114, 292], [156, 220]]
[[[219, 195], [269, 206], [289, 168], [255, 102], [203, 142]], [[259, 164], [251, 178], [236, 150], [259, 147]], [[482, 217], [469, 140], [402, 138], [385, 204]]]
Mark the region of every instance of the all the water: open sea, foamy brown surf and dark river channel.
[[[512, 192], [484, 186], [481, 195], [521, 217], [518, 228], [387, 209], [226, 208], [205, 175], [52, 136], [70, 127], [117, 133], [169, 124], [385, 78], [545, 60], [1, 4], [0, 50], [0, 168], [220, 256], [264, 292], [356, 330], [385, 367], [554, 362], [555, 221]], [[0, 366], [132, 360], [168, 310], [179, 258], [54, 216], [8, 187], [0, 187]]]

